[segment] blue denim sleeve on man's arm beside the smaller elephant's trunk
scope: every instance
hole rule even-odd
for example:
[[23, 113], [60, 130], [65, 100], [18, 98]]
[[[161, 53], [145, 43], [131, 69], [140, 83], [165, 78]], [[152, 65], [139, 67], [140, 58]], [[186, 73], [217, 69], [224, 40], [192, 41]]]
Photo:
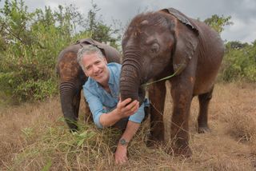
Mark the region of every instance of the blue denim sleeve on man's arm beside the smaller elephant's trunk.
[[102, 101], [95, 96], [93, 93], [90, 92], [90, 89], [87, 89], [83, 86], [83, 94], [86, 97], [86, 101], [89, 104], [90, 112], [93, 114], [94, 123], [98, 128], [103, 128], [102, 124], [99, 121], [99, 117], [103, 113], [103, 105]]

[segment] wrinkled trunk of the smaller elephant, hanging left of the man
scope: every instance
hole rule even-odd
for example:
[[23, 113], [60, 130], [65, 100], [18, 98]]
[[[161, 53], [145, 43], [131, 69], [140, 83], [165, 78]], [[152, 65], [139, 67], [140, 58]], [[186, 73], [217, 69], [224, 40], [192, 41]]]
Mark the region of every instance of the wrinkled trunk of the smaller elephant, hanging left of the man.
[[75, 87], [72, 82], [61, 82], [60, 84], [60, 98], [62, 105], [62, 113], [65, 117], [67, 125], [70, 127], [71, 131], [78, 130], [78, 115], [75, 113], [75, 107], [73, 105], [73, 99], [75, 96]]

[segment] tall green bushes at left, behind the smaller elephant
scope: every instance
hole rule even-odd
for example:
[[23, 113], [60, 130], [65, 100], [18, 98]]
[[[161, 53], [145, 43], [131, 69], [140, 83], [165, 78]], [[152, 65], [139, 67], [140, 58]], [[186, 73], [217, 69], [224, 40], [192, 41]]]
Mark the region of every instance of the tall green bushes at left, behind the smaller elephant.
[[57, 93], [55, 63], [64, 47], [91, 37], [94, 31], [98, 41], [118, 41], [111, 37], [116, 32], [95, 16], [90, 21], [94, 30], [77, 33], [76, 28], [85, 26], [86, 19], [72, 5], [30, 13], [22, 0], [6, 0], [0, 8], [0, 94], [17, 101], [34, 101]]

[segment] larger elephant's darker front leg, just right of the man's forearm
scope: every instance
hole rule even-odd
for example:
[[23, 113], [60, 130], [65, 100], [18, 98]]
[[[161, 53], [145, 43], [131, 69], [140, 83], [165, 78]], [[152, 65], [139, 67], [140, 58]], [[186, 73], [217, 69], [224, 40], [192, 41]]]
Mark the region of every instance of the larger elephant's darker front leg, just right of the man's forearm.
[[150, 134], [152, 141], [164, 141], [163, 110], [166, 100], [165, 82], [150, 85]]

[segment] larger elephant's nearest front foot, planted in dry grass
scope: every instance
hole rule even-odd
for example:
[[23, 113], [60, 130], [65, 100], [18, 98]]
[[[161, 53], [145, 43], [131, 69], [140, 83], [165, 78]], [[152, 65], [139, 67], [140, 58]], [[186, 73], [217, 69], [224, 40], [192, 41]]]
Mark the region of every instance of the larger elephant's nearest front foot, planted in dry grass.
[[166, 153], [177, 156], [177, 157], [186, 157], [186, 158], [191, 157], [193, 154], [189, 146], [173, 147], [168, 149]]

